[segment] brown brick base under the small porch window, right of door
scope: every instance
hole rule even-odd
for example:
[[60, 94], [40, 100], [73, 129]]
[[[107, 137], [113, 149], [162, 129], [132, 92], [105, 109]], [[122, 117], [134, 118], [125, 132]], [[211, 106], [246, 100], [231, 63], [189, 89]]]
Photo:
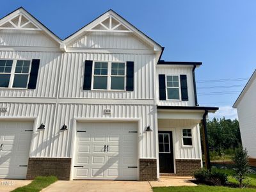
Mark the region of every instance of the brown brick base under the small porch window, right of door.
[[191, 176], [201, 168], [200, 159], [175, 159], [175, 162], [177, 176]]

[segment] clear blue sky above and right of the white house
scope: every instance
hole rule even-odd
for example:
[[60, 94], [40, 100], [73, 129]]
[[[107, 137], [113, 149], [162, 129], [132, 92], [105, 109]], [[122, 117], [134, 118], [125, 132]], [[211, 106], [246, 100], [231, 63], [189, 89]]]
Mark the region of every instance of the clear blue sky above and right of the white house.
[[220, 107], [211, 118], [236, 118], [232, 104], [246, 84], [244, 78], [250, 77], [256, 67], [255, 0], [1, 0], [0, 17], [19, 6], [60, 38], [110, 8], [115, 10], [165, 47], [162, 59], [203, 62], [196, 70], [198, 93], [203, 94], [198, 94], [198, 102]]

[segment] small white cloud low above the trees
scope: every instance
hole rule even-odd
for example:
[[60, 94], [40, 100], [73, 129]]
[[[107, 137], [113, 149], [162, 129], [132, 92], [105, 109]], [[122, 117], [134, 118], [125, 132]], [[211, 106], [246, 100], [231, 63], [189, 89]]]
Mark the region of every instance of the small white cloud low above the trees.
[[236, 109], [232, 108], [232, 106], [220, 106], [220, 109], [216, 111], [215, 113], [209, 113], [209, 119], [212, 118], [223, 118], [225, 116], [225, 119], [231, 119], [234, 120], [237, 118], [237, 111]]

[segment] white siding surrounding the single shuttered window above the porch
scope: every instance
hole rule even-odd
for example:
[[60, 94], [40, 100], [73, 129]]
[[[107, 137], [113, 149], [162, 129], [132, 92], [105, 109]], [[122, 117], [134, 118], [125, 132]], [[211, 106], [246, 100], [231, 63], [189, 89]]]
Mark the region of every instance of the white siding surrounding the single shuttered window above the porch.
[[[193, 66], [184, 67], [184, 66], [177, 66], [177, 65], [166, 65], [166, 66], [157, 65], [156, 67], [156, 74], [157, 74], [156, 75], [156, 98], [159, 106], [195, 106], [192, 68]], [[158, 79], [159, 74], [164, 74], [165, 77], [187, 75], [188, 100], [159, 100], [159, 79]], [[167, 95], [166, 95], [166, 99], [167, 99]]]

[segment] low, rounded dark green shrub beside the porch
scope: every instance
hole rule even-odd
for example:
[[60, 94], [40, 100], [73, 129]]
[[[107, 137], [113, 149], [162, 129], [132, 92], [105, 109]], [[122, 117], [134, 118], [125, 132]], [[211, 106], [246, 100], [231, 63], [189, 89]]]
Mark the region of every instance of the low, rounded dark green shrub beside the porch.
[[212, 172], [208, 170], [197, 170], [194, 173], [195, 179], [204, 184], [209, 184], [213, 186], [221, 186], [227, 183], [228, 175], [226, 173], [222, 173], [217, 169], [212, 169]]

